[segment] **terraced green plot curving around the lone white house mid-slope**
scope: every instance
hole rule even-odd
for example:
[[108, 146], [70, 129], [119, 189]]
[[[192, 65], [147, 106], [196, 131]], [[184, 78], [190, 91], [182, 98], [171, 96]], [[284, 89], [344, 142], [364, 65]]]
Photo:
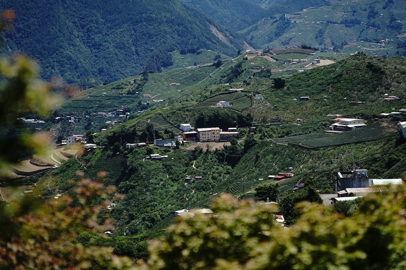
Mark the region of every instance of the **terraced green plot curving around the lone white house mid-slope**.
[[230, 107], [233, 110], [243, 111], [252, 106], [252, 100], [249, 94], [247, 93], [230, 93], [226, 95], [218, 95], [200, 103], [197, 103], [193, 106], [187, 107], [187, 109], [221, 109], [215, 108], [219, 101], [228, 101], [232, 106]]

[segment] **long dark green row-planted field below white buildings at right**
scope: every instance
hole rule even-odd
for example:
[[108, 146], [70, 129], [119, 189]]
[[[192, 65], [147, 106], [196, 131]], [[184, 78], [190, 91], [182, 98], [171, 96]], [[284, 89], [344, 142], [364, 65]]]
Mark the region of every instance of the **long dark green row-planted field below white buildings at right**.
[[[296, 144], [309, 148], [320, 148], [329, 146], [339, 146], [350, 143], [375, 141], [385, 137], [391, 137], [398, 134], [395, 122], [377, 122], [366, 127], [343, 132], [340, 134], [318, 137], [317, 134], [308, 134], [292, 136], [282, 139], [274, 139], [275, 142]], [[313, 138], [312, 138], [313, 137]]]

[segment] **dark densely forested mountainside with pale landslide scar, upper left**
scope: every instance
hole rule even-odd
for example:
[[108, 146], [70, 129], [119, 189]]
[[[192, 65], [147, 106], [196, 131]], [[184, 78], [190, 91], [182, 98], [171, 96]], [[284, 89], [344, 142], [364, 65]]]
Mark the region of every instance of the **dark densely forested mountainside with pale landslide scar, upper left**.
[[233, 56], [245, 48], [238, 34], [176, 0], [5, 0], [0, 8], [16, 13], [7, 53], [24, 52], [38, 61], [44, 79], [61, 76], [68, 83], [160, 71], [173, 64], [169, 53], [175, 50]]

